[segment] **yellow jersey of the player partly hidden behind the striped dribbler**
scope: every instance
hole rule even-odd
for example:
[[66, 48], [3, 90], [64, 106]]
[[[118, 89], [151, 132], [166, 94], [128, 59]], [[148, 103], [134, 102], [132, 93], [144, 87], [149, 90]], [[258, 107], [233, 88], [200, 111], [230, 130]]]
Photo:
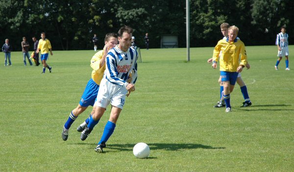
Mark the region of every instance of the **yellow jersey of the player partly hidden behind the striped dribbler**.
[[92, 79], [97, 84], [100, 85], [102, 80], [104, 70], [106, 69], [106, 63], [100, 66], [100, 60], [103, 57], [103, 50], [98, 51], [91, 59], [90, 66], [92, 67]]

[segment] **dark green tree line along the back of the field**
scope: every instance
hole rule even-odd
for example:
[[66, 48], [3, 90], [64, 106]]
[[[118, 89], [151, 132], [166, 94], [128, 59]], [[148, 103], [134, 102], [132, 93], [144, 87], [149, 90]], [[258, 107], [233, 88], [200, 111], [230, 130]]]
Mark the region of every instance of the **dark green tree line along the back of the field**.
[[[122, 25], [134, 28], [139, 47], [159, 48], [162, 35], [178, 36], [186, 47], [186, 0], [0, 0], [0, 40], [8, 38], [15, 51], [22, 38], [40, 39], [46, 32], [54, 50], [92, 49], [97, 34], [102, 48], [105, 34]], [[215, 46], [220, 24], [239, 27], [245, 45], [274, 45], [281, 26], [294, 41], [294, 0], [190, 0], [190, 46]]]

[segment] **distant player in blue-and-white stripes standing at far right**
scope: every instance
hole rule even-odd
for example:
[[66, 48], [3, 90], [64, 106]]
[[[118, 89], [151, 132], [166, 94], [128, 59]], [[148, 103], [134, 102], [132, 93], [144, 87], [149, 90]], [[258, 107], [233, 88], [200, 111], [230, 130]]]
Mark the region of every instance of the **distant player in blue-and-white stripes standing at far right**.
[[278, 60], [276, 65], [274, 66], [276, 70], [278, 70], [278, 65], [282, 60], [282, 57], [285, 56], [286, 59], [286, 70], [290, 70], [289, 68], [289, 48], [288, 48], [288, 39], [289, 35], [286, 33], [286, 27], [281, 27], [281, 33], [277, 34], [276, 45], [278, 46]]

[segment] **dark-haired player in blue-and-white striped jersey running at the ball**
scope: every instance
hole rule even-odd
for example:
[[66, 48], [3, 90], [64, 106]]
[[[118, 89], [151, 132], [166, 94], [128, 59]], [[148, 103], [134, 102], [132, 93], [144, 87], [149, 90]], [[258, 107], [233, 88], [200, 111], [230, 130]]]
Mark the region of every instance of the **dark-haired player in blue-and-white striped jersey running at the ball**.
[[[125, 97], [135, 91], [137, 80], [138, 53], [131, 48], [133, 29], [123, 26], [118, 32], [119, 44], [110, 49], [106, 56], [106, 69], [97, 95], [97, 107], [90, 118], [88, 126], [81, 133], [81, 140], [85, 140], [104, 114], [106, 107], [111, 104], [109, 121], [105, 125], [102, 137], [95, 151], [103, 152], [105, 143], [112, 135], [116, 122], [123, 109]], [[127, 82], [131, 74], [130, 83]]]

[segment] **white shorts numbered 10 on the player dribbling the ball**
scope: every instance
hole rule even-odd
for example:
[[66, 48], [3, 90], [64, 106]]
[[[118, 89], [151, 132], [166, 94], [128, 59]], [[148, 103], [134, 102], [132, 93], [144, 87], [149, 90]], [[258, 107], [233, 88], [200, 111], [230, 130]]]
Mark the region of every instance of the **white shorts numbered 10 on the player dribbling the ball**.
[[114, 107], [123, 109], [126, 94], [127, 89], [125, 87], [112, 84], [103, 78], [100, 83], [96, 105], [106, 108], [110, 103]]

